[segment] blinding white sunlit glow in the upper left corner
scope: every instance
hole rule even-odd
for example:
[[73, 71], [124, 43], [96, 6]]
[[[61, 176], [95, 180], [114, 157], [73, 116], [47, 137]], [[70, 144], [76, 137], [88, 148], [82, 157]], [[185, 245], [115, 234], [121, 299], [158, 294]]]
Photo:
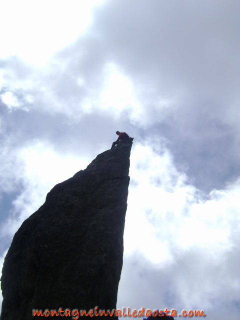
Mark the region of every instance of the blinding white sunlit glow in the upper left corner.
[[0, 58], [19, 55], [33, 64], [74, 41], [91, 21], [100, 0], [2, 0], [0, 2]]

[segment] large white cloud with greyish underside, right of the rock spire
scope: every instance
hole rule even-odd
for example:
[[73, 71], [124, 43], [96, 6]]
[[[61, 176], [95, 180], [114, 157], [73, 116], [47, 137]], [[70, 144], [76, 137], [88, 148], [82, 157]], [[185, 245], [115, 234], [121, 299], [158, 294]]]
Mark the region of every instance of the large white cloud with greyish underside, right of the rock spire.
[[[124, 254], [125, 263], [135, 256], [132, 263], [138, 266], [131, 269], [128, 265], [123, 272], [128, 277], [129, 272], [141, 273], [132, 281], [138, 279], [142, 290], [154, 291], [155, 305], [168, 303], [174, 309], [204, 306], [208, 314], [218, 315], [217, 307], [229, 306], [240, 292], [238, 272], [230, 267], [240, 259], [239, 179], [206, 196], [187, 183], [167, 148], [161, 146], [155, 152], [153, 147], [155, 143], [148, 140], [135, 144], [131, 152]], [[150, 269], [155, 275], [147, 284]], [[165, 276], [168, 284], [161, 286]], [[161, 293], [152, 281], [158, 283]], [[174, 292], [172, 302], [164, 297], [168, 290]], [[135, 300], [132, 297], [127, 303]]]

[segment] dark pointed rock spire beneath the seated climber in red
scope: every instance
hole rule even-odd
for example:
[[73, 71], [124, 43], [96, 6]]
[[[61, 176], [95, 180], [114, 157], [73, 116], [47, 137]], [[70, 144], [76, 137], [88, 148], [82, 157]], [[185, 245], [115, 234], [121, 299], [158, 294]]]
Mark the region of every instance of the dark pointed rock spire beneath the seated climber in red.
[[55, 185], [22, 223], [3, 264], [0, 320], [38, 317], [32, 309], [115, 308], [131, 144], [98, 154]]

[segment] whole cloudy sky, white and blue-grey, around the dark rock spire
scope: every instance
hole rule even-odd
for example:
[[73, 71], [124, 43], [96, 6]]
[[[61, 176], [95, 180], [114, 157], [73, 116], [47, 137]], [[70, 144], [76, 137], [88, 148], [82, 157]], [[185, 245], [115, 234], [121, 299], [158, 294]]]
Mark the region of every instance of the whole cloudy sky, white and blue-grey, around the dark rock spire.
[[0, 1], [0, 268], [46, 193], [125, 131], [117, 307], [239, 318], [239, 10], [234, 0]]

